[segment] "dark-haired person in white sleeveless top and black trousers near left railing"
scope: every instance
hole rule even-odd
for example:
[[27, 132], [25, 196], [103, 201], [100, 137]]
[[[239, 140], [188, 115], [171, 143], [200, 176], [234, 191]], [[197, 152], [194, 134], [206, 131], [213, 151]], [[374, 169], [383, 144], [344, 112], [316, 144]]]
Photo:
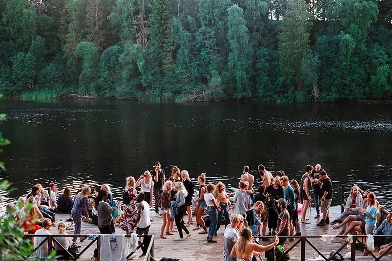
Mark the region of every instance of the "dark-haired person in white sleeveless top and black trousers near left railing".
[[[148, 235], [150, 226], [151, 226], [151, 220], [150, 220], [150, 205], [148, 204], [147, 201], [145, 201], [145, 195], [144, 193], [139, 193], [139, 195], [136, 198], [136, 202], [138, 204], [138, 216], [137, 216], [137, 223], [138, 226], [136, 228], [136, 234], [138, 235]], [[141, 242], [139, 242], [140, 244]], [[148, 250], [148, 245], [150, 244], [150, 240], [147, 239], [147, 237], [143, 238], [143, 246], [142, 246], [142, 252], [143, 255], [146, 255], [147, 250]]]

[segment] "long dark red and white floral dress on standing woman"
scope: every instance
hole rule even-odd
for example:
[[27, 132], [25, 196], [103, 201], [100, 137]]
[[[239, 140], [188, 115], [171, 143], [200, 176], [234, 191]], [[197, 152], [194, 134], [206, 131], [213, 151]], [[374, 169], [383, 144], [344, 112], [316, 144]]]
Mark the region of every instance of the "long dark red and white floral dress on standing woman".
[[125, 193], [129, 195], [129, 204], [124, 204], [123, 216], [120, 219], [120, 228], [127, 234], [131, 234], [133, 229], [137, 226], [138, 209], [136, 207], [136, 189], [126, 187]]

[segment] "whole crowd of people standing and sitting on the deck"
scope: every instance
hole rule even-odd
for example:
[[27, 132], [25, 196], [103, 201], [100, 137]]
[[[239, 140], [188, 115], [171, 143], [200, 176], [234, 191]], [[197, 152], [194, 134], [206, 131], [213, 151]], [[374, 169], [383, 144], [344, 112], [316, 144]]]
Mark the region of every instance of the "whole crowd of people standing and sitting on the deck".
[[[316, 208], [314, 218], [319, 221], [316, 225], [330, 224], [334, 229], [341, 228], [338, 235], [392, 234], [392, 214], [386, 214], [382, 210], [373, 192], [366, 190], [361, 195], [357, 186], [351, 188], [344, 212], [330, 222], [332, 181], [319, 164], [314, 168], [311, 165], [305, 167], [300, 184], [295, 179], [290, 181], [282, 170], [277, 171], [273, 177], [262, 164], [258, 166], [258, 172], [262, 184], [254, 190], [255, 177], [249, 174], [249, 167], [244, 166], [238, 190], [231, 194], [226, 193], [222, 182], [206, 184], [206, 175], [202, 173], [197, 179], [197, 193], [196, 185], [190, 180], [187, 170], [180, 171], [174, 166], [172, 175], [166, 180], [161, 163], [155, 162], [155, 168], [145, 171], [137, 180], [132, 176], [126, 178], [122, 205], [113, 199], [111, 189], [106, 184], [98, 192], [88, 186], [81, 188], [72, 199], [68, 187], [57, 197], [57, 186], [50, 183], [50, 190], [44, 190], [40, 184], [34, 185], [31, 193], [19, 198], [20, 209], [9, 203], [7, 213], [13, 214], [12, 217], [25, 230], [25, 234], [49, 235], [51, 226], [58, 226], [60, 234], [64, 234], [66, 223], [73, 222], [71, 228], [74, 227], [74, 234], [78, 235], [81, 234], [82, 222], [88, 222], [98, 225], [100, 233], [104, 235], [115, 234], [117, 223], [125, 234], [136, 232], [148, 235], [153, 220], [149, 209], [153, 206], [154, 196], [156, 215], [163, 221], [160, 238], [167, 239], [174, 235], [173, 232], [178, 232], [178, 237], [174, 240], [182, 241], [192, 236], [188, 227], [196, 223], [192, 231], [199, 230], [199, 234], [207, 234], [207, 243], [216, 243], [214, 237], [218, 235], [221, 224], [224, 224], [224, 232], [221, 233], [224, 233], [225, 261], [256, 260], [260, 252], [266, 252], [268, 259], [267, 253], [270, 251], [273, 258], [276, 255], [273, 248], [284, 249], [287, 241], [294, 240], [289, 240], [287, 236], [300, 236], [302, 224], [311, 223], [307, 218], [307, 210], [312, 201]], [[141, 188], [137, 192], [136, 188], [139, 186]], [[234, 203], [230, 202], [230, 198], [233, 198]], [[32, 207], [25, 209], [27, 203]], [[230, 215], [229, 210], [233, 214]], [[68, 222], [56, 224], [55, 213], [70, 214], [71, 218]], [[187, 221], [184, 220], [185, 213]], [[193, 214], [196, 215], [196, 222]], [[38, 246], [43, 238], [32, 239], [34, 245]], [[273, 239], [273, 243], [261, 245], [259, 238], [262, 241]], [[375, 244], [380, 246], [379, 254], [382, 254], [391, 246], [391, 238], [377, 239]], [[79, 240], [82, 242], [85, 238]], [[77, 246], [77, 237], [72, 237], [72, 240], [59, 237], [58, 241], [65, 249]], [[38, 258], [47, 257], [47, 248], [47, 244], [42, 245], [35, 255]], [[147, 249], [148, 242], [144, 242], [144, 255]], [[56, 250], [67, 258], [65, 251]], [[368, 251], [364, 251], [364, 255], [368, 254]], [[392, 254], [392, 251], [386, 254]]]

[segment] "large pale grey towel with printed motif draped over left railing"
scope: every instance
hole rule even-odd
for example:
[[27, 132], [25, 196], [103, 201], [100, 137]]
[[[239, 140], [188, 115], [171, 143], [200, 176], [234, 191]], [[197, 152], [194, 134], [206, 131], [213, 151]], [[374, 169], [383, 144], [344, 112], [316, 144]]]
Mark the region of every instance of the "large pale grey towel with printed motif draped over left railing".
[[129, 254], [125, 234], [123, 235], [101, 235], [100, 260], [126, 261]]

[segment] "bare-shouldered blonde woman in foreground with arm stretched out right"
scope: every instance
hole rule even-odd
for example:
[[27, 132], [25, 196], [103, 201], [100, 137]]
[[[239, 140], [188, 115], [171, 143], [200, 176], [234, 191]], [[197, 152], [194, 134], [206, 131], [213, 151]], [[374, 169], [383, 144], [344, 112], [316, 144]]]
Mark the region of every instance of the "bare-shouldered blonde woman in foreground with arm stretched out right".
[[237, 261], [252, 261], [253, 254], [257, 252], [265, 252], [271, 248], [277, 246], [279, 238], [275, 237], [275, 241], [267, 246], [262, 246], [257, 243], [253, 243], [252, 231], [249, 228], [244, 228], [240, 232], [240, 238], [233, 246], [230, 256], [236, 257]]

